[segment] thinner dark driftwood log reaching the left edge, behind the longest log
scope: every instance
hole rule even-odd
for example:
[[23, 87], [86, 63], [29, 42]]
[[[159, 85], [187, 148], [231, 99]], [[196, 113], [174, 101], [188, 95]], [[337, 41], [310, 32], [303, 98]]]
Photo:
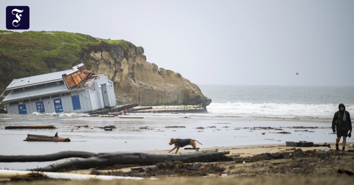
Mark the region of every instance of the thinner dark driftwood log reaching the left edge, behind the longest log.
[[96, 153], [80, 152], [80, 151], [63, 151], [58, 153], [51, 153], [47, 155], [19, 155], [19, 156], [2, 156], [0, 155], [0, 162], [12, 163], [12, 162], [44, 162], [44, 161], [56, 161], [59, 159], [65, 159], [70, 157], [89, 158]]

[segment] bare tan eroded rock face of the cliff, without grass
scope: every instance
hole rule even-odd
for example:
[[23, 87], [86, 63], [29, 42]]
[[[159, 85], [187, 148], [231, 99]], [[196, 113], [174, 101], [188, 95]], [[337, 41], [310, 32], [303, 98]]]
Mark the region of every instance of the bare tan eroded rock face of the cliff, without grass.
[[179, 73], [147, 62], [141, 47], [129, 42], [128, 46], [101, 45], [88, 51], [84, 60], [96, 74], [104, 73], [114, 82], [117, 105], [139, 103], [139, 95], [142, 106], [210, 104], [211, 99], [197, 85]]

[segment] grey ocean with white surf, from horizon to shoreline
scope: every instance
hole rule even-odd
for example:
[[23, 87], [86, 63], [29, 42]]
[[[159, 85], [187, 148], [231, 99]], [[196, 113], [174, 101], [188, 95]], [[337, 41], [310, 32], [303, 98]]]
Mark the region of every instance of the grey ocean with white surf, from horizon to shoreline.
[[354, 115], [349, 86], [198, 86], [212, 100], [206, 117], [331, 120], [339, 103]]

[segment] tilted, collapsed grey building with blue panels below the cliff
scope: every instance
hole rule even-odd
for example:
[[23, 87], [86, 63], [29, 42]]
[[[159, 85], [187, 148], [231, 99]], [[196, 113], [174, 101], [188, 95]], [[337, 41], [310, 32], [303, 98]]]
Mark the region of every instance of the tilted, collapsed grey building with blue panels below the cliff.
[[66, 71], [13, 79], [4, 92], [8, 95], [2, 103], [15, 114], [92, 113], [116, 104], [113, 82], [82, 63]]

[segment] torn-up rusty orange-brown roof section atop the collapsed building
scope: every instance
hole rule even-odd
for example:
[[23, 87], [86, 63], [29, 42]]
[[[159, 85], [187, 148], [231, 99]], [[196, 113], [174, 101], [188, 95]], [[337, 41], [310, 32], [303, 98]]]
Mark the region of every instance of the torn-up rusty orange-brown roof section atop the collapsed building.
[[80, 88], [91, 75], [95, 75], [92, 70], [87, 68], [83, 63], [73, 67], [74, 71], [69, 71], [62, 75], [64, 84], [67, 89]]

